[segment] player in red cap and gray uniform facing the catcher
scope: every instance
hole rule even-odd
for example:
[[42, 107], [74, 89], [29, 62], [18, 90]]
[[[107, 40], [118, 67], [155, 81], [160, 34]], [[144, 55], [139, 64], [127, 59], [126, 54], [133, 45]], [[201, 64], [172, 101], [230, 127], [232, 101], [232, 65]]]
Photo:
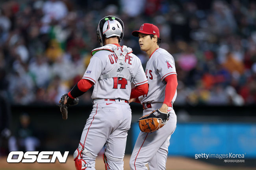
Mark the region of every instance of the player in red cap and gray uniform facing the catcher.
[[159, 108], [163, 113], [170, 113], [169, 120], [156, 132], [140, 132], [130, 159], [132, 170], [165, 170], [169, 140], [176, 128], [176, 114], [173, 102], [177, 95], [177, 75], [173, 56], [159, 48], [161, 39], [159, 29], [153, 24], [142, 24], [139, 31], [132, 35], [139, 37], [139, 46], [149, 57], [146, 66], [148, 93], [137, 100], [143, 105], [143, 116]]

